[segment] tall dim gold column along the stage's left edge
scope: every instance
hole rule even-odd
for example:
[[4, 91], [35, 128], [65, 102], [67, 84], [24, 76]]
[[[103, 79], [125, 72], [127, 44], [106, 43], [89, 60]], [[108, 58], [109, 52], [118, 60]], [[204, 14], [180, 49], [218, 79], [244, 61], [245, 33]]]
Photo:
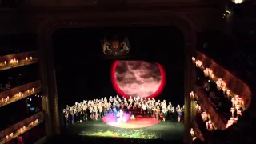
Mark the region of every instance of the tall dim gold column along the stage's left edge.
[[[47, 29], [47, 28], [46, 28]], [[39, 50], [41, 53], [40, 68], [42, 79], [42, 108], [46, 112], [45, 124], [48, 136], [60, 133], [58, 114], [58, 94], [54, 68], [54, 53], [50, 45], [53, 31], [42, 30], [39, 34]]]

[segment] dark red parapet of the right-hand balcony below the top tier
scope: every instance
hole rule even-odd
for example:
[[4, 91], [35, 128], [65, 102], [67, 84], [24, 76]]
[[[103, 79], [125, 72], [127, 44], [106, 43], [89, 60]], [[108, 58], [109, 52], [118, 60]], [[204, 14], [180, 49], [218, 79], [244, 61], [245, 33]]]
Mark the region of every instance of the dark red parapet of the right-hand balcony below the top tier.
[[202, 105], [202, 110], [204, 110], [207, 114], [210, 114], [210, 120], [214, 123], [216, 128], [218, 130], [225, 130], [225, 119], [223, 119], [222, 116], [218, 114], [213, 104], [209, 102], [208, 97], [203, 92], [202, 88], [195, 86], [194, 93], [197, 95], [198, 102]]

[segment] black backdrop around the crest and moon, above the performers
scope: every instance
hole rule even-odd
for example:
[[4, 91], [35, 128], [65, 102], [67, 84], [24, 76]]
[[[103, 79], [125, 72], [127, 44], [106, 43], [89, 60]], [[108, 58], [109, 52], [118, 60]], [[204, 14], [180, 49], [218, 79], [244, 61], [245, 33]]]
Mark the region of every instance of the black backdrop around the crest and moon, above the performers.
[[120, 27], [62, 29], [53, 35], [60, 108], [82, 100], [116, 95], [110, 79], [114, 60], [102, 53], [104, 37], [127, 37], [130, 60], [160, 63], [166, 71], [166, 86], [157, 99], [183, 104], [183, 37], [172, 27]]

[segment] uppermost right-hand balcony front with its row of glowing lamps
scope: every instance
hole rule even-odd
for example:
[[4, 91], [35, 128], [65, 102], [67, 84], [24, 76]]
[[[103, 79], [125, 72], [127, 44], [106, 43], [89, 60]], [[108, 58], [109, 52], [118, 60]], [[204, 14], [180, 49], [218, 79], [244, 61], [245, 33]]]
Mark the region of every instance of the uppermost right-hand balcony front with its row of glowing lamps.
[[[209, 77], [211, 81], [215, 82], [218, 89], [225, 92], [225, 94], [229, 96], [228, 98], [232, 99], [232, 97], [236, 95], [241, 97], [242, 108], [244, 110], [249, 108], [252, 97], [249, 86], [247, 86], [242, 79], [234, 76], [234, 74], [231, 74], [228, 70], [223, 68], [223, 66], [218, 65], [216, 62], [214, 62], [214, 60], [207, 57], [205, 54], [197, 52], [196, 55], [197, 56], [194, 57], [196, 61], [199, 60], [199, 63], [202, 62], [202, 65], [197, 67], [203, 70], [206, 77]], [[195, 62], [195, 65], [198, 65], [197, 62]]]

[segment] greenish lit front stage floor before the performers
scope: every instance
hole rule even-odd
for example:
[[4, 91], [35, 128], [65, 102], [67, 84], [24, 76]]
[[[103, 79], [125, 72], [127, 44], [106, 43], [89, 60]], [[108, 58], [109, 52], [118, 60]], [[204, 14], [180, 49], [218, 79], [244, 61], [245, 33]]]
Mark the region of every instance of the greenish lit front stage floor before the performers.
[[[135, 120], [136, 121], [136, 120]], [[182, 122], [156, 122], [154, 126], [144, 128], [120, 128], [110, 126], [101, 119], [98, 121], [76, 122], [68, 126], [66, 134], [86, 137], [109, 137], [131, 139], [162, 139], [167, 141], [182, 141], [184, 125]]]

